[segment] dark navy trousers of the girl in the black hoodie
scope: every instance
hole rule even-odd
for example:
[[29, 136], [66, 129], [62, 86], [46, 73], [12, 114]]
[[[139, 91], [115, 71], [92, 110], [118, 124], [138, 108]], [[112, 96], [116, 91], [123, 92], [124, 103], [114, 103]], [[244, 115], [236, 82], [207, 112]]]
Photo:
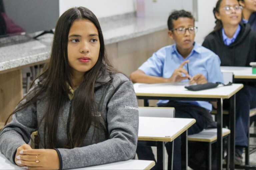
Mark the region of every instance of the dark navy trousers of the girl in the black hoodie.
[[[227, 108], [228, 102], [224, 101], [223, 106]], [[236, 93], [236, 146], [248, 146], [248, 127], [250, 122], [250, 109], [256, 107], [256, 87], [244, 85]]]

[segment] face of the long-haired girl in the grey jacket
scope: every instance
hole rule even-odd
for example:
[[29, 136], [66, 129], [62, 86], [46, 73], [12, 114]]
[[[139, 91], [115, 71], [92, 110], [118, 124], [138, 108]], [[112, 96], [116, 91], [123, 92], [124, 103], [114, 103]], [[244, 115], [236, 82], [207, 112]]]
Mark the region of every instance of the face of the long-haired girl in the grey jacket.
[[86, 19], [75, 20], [68, 34], [68, 62], [71, 73], [84, 74], [99, 58], [100, 42], [95, 25]]

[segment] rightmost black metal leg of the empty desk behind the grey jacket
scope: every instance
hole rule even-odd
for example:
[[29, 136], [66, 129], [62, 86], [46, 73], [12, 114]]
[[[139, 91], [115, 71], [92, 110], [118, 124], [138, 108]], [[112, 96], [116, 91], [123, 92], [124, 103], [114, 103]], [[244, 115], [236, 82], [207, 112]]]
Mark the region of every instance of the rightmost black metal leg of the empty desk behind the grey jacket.
[[181, 169], [188, 169], [188, 131], [181, 134]]

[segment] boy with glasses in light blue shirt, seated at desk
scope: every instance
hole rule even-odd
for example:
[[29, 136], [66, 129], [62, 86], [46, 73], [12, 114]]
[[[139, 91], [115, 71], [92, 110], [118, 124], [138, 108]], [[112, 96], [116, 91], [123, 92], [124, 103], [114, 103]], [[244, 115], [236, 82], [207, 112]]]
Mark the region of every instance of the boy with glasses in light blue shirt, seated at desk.
[[[190, 84], [204, 84], [207, 82], [223, 82], [220, 71], [219, 57], [209, 49], [194, 42], [197, 27], [190, 12], [174, 11], [168, 18], [168, 36], [175, 44], [165, 46], [144, 62], [138, 70], [130, 75], [133, 82], [138, 83], [164, 83], [188, 82]], [[189, 67], [187, 66], [189, 64]], [[189, 68], [189, 70], [187, 70]], [[189, 72], [189, 74], [188, 74]], [[216, 127], [210, 111], [212, 105], [203, 101], [168, 101], [160, 100], [159, 107], [174, 107], [176, 118], [193, 118], [196, 123], [188, 129], [188, 134], [195, 134], [204, 128]], [[181, 168], [180, 139], [174, 142], [173, 168]], [[168, 148], [169, 145], [166, 145]], [[202, 148], [189, 147], [189, 166], [193, 169], [205, 167]], [[167, 149], [167, 152], [169, 149]], [[199, 153], [199, 152], [200, 153]], [[169, 153], [168, 153], [169, 154]], [[137, 147], [139, 159], [155, 160], [150, 147]], [[214, 164], [212, 164], [214, 166]], [[168, 168], [169, 169], [169, 168]]]

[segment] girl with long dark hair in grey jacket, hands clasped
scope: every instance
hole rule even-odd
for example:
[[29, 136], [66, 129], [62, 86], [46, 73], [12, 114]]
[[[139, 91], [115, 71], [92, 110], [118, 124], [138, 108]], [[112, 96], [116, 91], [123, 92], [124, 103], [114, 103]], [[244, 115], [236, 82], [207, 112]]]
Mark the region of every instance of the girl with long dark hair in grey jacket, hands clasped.
[[[42, 149], [26, 144], [33, 131]], [[0, 151], [28, 169], [79, 168], [133, 158], [137, 135], [133, 84], [109, 63], [96, 16], [67, 10], [44, 72], [0, 133]]]

